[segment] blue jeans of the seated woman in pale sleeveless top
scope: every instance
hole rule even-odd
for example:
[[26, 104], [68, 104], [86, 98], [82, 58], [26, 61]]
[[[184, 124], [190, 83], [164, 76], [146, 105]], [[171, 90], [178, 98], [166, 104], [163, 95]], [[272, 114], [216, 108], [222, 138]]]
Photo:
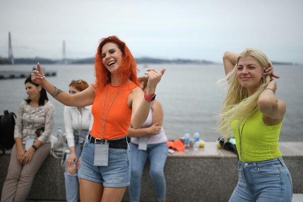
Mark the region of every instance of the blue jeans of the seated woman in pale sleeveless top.
[[148, 144], [147, 150], [138, 149], [138, 144], [131, 143], [131, 178], [129, 186], [130, 201], [140, 200], [141, 177], [144, 164], [149, 158], [149, 174], [159, 201], [165, 200], [166, 181], [164, 176], [164, 165], [167, 158], [168, 147], [166, 142], [159, 144]]

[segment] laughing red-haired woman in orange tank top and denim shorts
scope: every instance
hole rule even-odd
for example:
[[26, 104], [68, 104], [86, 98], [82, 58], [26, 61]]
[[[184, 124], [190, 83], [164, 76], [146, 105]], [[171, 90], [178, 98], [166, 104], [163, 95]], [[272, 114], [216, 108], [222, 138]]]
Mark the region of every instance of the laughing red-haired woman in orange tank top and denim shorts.
[[92, 105], [94, 122], [81, 155], [81, 201], [121, 201], [130, 182], [130, 150], [126, 135], [146, 120], [161, 72], [147, 69], [146, 92], [139, 87], [136, 63], [126, 44], [116, 36], [103, 38], [95, 57], [96, 81], [69, 95], [49, 83], [41, 71], [32, 79], [67, 106]]

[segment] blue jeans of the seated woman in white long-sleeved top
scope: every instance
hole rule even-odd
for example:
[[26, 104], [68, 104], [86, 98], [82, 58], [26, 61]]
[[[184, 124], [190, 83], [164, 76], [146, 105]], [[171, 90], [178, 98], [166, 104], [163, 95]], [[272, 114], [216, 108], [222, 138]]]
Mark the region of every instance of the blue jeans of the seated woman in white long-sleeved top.
[[[79, 160], [79, 157], [82, 153], [82, 145], [79, 143], [79, 141], [75, 142], [75, 151], [77, 155], [77, 160]], [[78, 200], [79, 178], [78, 178], [78, 172], [76, 172], [74, 175], [71, 175], [65, 170], [66, 161], [68, 160], [68, 158], [69, 158], [69, 154], [66, 155], [65, 162], [63, 164], [63, 170], [64, 170], [64, 178], [65, 178], [66, 201], [72, 202]]]

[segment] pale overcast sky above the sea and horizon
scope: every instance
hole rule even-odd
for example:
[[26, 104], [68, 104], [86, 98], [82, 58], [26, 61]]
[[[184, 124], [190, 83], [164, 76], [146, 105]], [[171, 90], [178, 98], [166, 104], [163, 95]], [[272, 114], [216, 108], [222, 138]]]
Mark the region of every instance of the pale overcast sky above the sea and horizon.
[[303, 64], [303, 1], [0, 0], [0, 57], [93, 57], [117, 35], [135, 57], [221, 62], [259, 48], [272, 61]]

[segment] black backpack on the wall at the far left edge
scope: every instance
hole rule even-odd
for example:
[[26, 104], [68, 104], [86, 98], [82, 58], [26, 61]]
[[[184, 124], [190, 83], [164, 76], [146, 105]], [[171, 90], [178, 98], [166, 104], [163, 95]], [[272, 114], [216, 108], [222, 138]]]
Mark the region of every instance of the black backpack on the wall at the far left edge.
[[0, 156], [5, 155], [5, 149], [14, 146], [15, 118], [17, 118], [15, 113], [8, 110], [5, 110], [4, 115], [0, 116]]

